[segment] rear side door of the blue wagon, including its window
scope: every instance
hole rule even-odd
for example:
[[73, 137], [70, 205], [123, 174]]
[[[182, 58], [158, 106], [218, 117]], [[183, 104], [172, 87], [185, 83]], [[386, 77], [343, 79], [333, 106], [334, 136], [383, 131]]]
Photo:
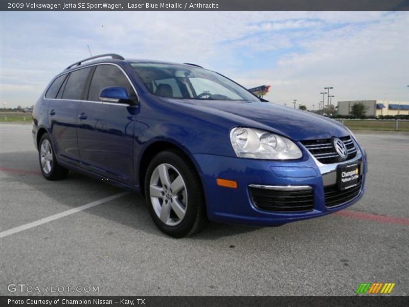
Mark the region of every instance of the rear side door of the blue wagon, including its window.
[[85, 84], [91, 70], [90, 67], [83, 68], [66, 76], [48, 108], [51, 137], [58, 158], [76, 165], [80, 161], [77, 140], [78, 108], [85, 95]]

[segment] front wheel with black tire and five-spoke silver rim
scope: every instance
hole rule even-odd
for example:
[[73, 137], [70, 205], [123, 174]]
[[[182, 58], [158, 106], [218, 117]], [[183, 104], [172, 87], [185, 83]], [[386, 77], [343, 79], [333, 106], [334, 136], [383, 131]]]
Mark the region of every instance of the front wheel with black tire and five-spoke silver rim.
[[200, 178], [176, 151], [163, 151], [152, 159], [145, 176], [145, 195], [156, 226], [172, 237], [192, 235], [206, 225]]

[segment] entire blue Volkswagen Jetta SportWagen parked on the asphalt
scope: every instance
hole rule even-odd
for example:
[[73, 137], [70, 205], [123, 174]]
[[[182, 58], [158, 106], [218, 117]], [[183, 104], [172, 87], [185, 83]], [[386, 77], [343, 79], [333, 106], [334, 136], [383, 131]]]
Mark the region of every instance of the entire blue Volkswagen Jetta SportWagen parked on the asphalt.
[[366, 154], [344, 125], [260, 100], [195, 64], [79, 61], [47, 86], [33, 119], [46, 179], [71, 169], [141, 191], [174, 237], [208, 220], [317, 217], [365, 190]]

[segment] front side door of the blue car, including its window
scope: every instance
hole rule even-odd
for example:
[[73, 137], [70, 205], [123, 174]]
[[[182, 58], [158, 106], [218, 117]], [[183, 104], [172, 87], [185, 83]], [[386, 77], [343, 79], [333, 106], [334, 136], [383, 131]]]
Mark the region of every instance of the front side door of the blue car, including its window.
[[108, 86], [135, 91], [117, 65], [100, 64], [89, 83], [87, 101], [78, 112], [78, 144], [82, 167], [126, 184], [133, 184], [133, 126], [137, 106], [102, 102], [101, 91]]

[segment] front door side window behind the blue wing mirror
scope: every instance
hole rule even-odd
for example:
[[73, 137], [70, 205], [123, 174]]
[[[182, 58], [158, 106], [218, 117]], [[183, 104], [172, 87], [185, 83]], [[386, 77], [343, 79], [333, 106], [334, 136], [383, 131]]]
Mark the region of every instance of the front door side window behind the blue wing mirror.
[[88, 100], [101, 101], [99, 94], [105, 87], [125, 87], [129, 97], [136, 97], [131, 84], [124, 73], [116, 66], [109, 64], [98, 65], [95, 69], [93, 79], [89, 86]]

